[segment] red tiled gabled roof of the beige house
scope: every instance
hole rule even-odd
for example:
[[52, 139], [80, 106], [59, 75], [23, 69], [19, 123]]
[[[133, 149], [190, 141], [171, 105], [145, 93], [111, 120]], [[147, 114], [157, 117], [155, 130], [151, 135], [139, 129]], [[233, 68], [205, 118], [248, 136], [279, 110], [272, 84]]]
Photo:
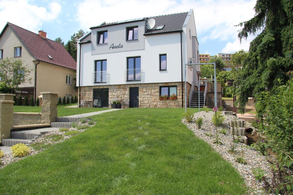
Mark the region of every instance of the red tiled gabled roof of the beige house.
[[[23, 42], [36, 60], [76, 70], [76, 61], [62, 44], [52, 41], [51, 39], [42, 38], [39, 34], [11, 23], [6, 24], [0, 37], [7, 26], [12, 28], [13, 32], [18, 36], [21, 42]], [[52, 59], [49, 58], [48, 55], [50, 55]]]

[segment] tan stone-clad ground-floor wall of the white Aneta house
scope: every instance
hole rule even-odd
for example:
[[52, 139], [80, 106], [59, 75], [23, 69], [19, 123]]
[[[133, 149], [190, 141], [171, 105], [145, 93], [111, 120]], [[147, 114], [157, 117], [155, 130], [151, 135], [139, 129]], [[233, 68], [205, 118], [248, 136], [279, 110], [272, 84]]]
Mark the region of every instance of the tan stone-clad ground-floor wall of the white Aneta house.
[[[178, 99], [159, 100], [160, 86], [177, 86]], [[182, 90], [181, 82], [85, 86], [81, 87], [81, 99], [84, 99], [85, 101], [93, 101], [93, 89], [103, 88], [109, 89], [109, 102], [117, 99], [129, 99], [130, 87], [139, 87], [139, 107], [141, 108], [180, 108], [182, 106], [182, 92], [184, 106], [184, 90]], [[190, 89], [191, 85], [187, 83], [188, 106]]]

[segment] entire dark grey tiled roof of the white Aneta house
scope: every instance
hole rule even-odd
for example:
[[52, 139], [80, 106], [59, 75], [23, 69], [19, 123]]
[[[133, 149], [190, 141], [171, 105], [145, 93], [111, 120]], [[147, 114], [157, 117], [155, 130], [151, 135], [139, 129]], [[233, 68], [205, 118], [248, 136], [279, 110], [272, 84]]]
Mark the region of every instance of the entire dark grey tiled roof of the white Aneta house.
[[[190, 10], [192, 11], [192, 10]], [[155, 26], [149, 30], [147, 29], [144, 35], [147, 34], [159, 34], [159, 33], [168, 33], [168, 32], [179, 32], [183, 30], [183, 25], [185, 23], [186, 17], [188, 16], [188, 12], [183, 13], [174, 13], [174, 14], [168, 14], [168, 15], [159, 15], [159, 16], [153, 16], [153, 17], [147, 17], [147, 18], [137, 18], [137, 19], [131, 19], [131, 20], [122, 20], [119, 22], [112, 22], [112, 23], [102, 23], [96, 27], [93, 28], [99, 28], [99, 27], [105, 27], [110, 25], [119, 25], [123, 23], [132, 23], [137, 21], [148, 21], [149, 19], [154, 19], [156, 21]], [[156, 30], [158, 26], [164, 25], [163, 29]], [[84, 37], [82, 42], [85, 42], [85, 39], [91, 39], [91, 34], [88, 34], [86, 37]]]

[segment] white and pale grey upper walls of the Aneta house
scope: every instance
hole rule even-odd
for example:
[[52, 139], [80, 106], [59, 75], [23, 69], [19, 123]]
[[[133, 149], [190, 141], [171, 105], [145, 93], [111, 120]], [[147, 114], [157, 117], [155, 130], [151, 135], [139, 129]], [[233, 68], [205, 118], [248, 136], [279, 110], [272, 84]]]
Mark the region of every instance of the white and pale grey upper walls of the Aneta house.
[[[180, 32], [144, 35], [145, 20], [131, 23], [121, 23], [104, 27], [92, 28], [91, 42], [78, 44], [77, 51], [77, 86], [79, 86], [79, 61], [80, 61], [80, 86], [117, 85], [117, 84], [142, 84], [181, 82], [181, 63], [185, 70], [185, 63], [193, 58], [193, 63], [199, 62], [198, 42], [195, 29], [193, 10], [190, 10], [182, 26], [182, 57], [181, 62], [181, 37]], [[126, 28], [138, 27], [138, 40], [126, 41]], [[108, 32], [106, 44], [97, 44], [97, 32]], [[78, 40], [78, 43], [80, 40]], [[111, 45], [119, 46], [113, 49]], [[112, 45], [112, 46], [113, 46]], [[121, 47], [123, 45], [123, 47]], [[81, 57], [79, 53], [81, 48]], [[159, 55], [167, 55], [167, 70], [159, 70]], [[128, 57], [141, 57], [141, 80], [127, 81], [125, 71]], [[107, 60], [106, 82], [93, 82], [95, 61]], [[198, 67], [187, 68], [187, 81], [197, 85]], [[183, 72], [183, 81], [184, 81]]]

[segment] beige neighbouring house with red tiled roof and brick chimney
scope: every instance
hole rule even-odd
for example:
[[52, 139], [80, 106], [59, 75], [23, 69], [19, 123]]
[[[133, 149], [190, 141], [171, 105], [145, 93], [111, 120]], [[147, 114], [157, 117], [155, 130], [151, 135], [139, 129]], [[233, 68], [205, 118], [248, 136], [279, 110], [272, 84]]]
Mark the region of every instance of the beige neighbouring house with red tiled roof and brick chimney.
[[69, 98], [77, 94], [73, 88], [76, 62], [62, 44], [47, 39], [47, 33], [35, 34], [7, 23], [0, 34], [0, 50], [0, 57], [21, 59], [33, 69], [32, 82], [21, 84], [16, 94], [34, 100], [40, 92], [58, 92]]

